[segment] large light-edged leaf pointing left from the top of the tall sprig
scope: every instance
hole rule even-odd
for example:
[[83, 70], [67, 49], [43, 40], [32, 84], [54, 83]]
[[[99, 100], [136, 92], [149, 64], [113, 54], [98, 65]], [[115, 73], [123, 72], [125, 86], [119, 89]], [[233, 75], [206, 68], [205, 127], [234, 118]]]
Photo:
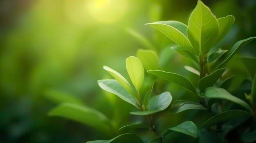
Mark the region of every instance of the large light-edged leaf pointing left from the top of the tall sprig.
[[189, 42], [189, 39], [187, 38], [187, 26], [185, 24], [178, 21], [159, 21], [145, 25], [153, 26], [155, 29], [161, 31], [164, 33], [164, 35], [173, 40], [173, 42], [175, 42], [177, 45], [185, 48], [191, 53], [195, 53]]

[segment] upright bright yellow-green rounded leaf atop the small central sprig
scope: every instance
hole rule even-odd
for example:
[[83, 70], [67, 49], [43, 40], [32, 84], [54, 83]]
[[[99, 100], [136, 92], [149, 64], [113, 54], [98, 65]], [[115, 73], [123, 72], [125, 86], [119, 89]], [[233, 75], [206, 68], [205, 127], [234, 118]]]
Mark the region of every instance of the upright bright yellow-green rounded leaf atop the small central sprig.
[[126, 69], [135, 86], [136, 90], [139, 91], [144, 80], [144, 68], [141, 60], [137, 57], [130, 56], [126, 59]]

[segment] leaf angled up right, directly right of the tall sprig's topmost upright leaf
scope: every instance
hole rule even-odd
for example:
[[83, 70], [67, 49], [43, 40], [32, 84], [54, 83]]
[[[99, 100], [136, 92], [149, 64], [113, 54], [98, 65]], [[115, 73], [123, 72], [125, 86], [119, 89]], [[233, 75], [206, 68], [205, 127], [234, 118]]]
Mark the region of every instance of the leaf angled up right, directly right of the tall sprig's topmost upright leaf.
[[224, 18], [218, 18], [219, 35], [218, 39], [216, 40], [216, 44], [227, 35], [234, 22], [235, 18], [232, 15], [227, 15]]

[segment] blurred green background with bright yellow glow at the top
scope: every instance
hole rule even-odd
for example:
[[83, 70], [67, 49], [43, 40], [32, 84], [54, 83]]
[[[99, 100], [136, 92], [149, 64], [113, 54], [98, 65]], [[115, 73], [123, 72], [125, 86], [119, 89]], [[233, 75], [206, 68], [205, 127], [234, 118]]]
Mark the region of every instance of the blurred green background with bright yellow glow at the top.
[[[47, 112], [58, 101], [54, 103], [45, 95], [54, 91], [76, 97], [85, 105], [116, 118], [110, 110], [115, 108], [112, 104], [126, 103], [118, 98], [113, 102], [99, 88], [97, 80], [110, 78], [103, 65], [127, 77], [125, 59], [135, 56], [139, 48], [150, 47], [138, 35], [151, 42], [160, 59], [161, 54], [169, 54], [162, 59], [162, 69], [190, 76], [183, 66], [191, 61], [171, 51], [173, 42], [144, 24], [162, 20], [187, 24], [196, 1], [1, 0], [0, 142], [79, 143], [102, 139], [104, 136], [86, 125], [48, 117]], [[255, 0], [202, 1], [217, 18], [226, 15], [236, 18], [218, 48], [229, 49], [236, 41], [256, 35]], [[238, 66], [239, 57], [256, 57], [255, 48], [254, 40], [230, 62], [229, 66], [242, 75], [236, 78], [233, 87], [239, 86], [248, 75], [240, 71], [243, 64]], [[173, 89], [173, 96], [182, 94], [182, 88], [175, 85], [168, 89]], [[125, 113], [120, 117], [127, 118], [125, 123], [134, 120], [129, 118], [128, 111]], [[177, 123], [174, 119], [173, 122]]]

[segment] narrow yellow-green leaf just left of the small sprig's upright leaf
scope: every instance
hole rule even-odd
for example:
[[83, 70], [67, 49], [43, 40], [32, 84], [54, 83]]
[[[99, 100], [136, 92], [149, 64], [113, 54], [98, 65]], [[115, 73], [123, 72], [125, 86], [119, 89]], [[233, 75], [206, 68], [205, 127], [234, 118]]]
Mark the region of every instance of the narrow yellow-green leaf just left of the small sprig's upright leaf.
[[108, 66], [103, 66], [103, 68], [104, 70], [107, 70], [108, 73], [110, 73], [110, 75], [112, 75], [115, 79], [117, 79], [117, 81], [124, 87], [124, 89], [126, 89], [132, 96], [134, 95], [134, 92], [129, 82], [120, 73]]

